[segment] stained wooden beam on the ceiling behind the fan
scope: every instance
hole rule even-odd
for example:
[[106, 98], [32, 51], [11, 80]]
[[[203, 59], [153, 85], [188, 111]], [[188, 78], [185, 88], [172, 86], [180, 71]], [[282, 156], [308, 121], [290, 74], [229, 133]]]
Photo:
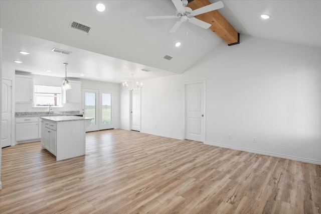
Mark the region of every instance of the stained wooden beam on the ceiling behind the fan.
[[[210, 5], [208, 0], [194, 0], [186, 7], [193, 11], [204, 6]], [[219, 37], [221, 37], [228, 45], [235, 45], [240, 43], [239, 33], [233, 26], [220, 14], [220, 12], [211, 11], [205, 14], [195, 16], [195, 18], [211, 24], [210, 29]]]

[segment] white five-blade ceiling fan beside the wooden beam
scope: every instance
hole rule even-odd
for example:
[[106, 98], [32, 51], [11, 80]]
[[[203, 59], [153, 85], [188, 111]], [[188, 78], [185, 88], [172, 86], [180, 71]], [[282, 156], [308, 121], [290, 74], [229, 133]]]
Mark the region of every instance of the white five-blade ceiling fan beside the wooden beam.
[[173, 28], [170, 30], [170, 33], [175, 33], [180, 25], [186, 21], [189, 21], [190, 23], [201, 28], [208, 29], [209, 27], [211, 27], [211, 24], [196, 19], [195, 16], [215, 11], [224, 7], [223, 2], [220, 1], [192, 11], [191, 8], [186, 7], [188, 4], [187, 0], [172, 0], [172, 2], [177, 10], [176, 16], [152, 16], [146, 17], [146, 19], [180, 19], [175, 23]]

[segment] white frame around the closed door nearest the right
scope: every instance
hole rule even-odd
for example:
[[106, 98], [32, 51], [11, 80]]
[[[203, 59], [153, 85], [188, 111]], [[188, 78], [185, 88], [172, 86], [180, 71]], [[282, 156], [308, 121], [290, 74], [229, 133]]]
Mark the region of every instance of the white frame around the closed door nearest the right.
[[185, 91], [185, 88], [186, 88], [186, 85], [189, 85], [189, 84], [199, 84], [199, 83], [202, 83], [203, 84], [203, 100], [204, 100], [204, 126], [202, 126], [202, 133], [203, 134], [203, 143], [206, 142], [206, 81], [205, 80], [200, 80], [200, 81], [191, 81], [191, 82], [183, 82], [183, 101], [182, 101], [182, 119], [183, 119], [183, 123], [182, 123], [182, 139], [185, 139], [185, 136], [186, 136], [186, 91]]

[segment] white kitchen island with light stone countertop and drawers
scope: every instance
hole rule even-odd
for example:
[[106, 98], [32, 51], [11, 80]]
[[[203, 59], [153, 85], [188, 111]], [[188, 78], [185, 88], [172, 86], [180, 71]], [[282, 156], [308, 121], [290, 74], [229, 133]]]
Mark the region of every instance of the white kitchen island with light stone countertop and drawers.
[[92, 118], [50, 116], [40, 119], [42, 148], [55, 155], [57, 161], [85, 154], [86, 129]]

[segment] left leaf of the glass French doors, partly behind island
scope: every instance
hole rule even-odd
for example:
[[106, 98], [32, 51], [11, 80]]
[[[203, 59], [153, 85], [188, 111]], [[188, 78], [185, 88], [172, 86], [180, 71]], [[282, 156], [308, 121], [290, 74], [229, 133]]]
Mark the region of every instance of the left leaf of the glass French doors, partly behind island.
[[99, 130], [99, 90], [82, 89], [82, 113], [85, 117], [93, 118], [87, 127], [87, 132]]

